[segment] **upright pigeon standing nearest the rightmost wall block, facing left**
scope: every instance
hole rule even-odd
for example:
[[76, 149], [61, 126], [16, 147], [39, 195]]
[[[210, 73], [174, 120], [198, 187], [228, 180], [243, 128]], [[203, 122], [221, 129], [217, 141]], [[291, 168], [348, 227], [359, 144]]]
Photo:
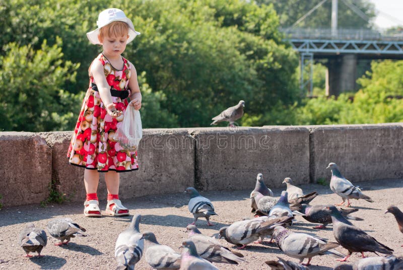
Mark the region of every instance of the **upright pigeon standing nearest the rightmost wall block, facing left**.
[[342, 203], [338, 204], [337, 206], [344, 205], [346, 199], [347, 207], [351, 206], [350, 199], [365, 199], [370, 203], [374, 202], [370, 197], [363, 194], [359, 187], [354, 186], [342, 175], [337, 164], [330, 162], [326, 169], [329, 168], [331, 169], [330, 189], [343, 198]]

